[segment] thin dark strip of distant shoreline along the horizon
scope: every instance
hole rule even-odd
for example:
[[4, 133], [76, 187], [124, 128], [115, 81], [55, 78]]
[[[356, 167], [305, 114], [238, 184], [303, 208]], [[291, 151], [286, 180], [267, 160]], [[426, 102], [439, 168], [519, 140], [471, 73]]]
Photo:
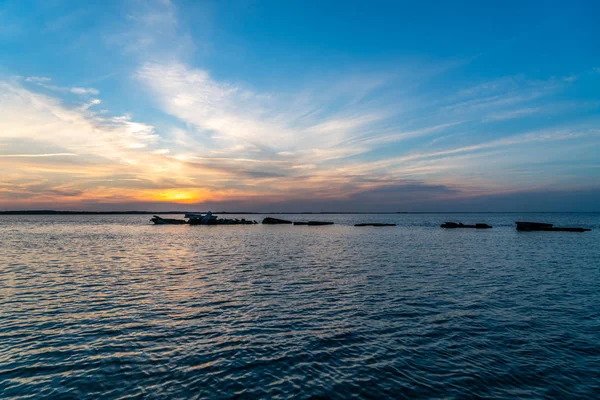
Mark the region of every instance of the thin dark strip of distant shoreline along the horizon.
[[[343, 215], [343, 214], [593, 214], [600, 211], [317, 211], [317, 212], [255, 212], [255, 211], [218, 211], [214, 214], [237, 215], [286, 215], [286, 214], [315, 214], [315, 215]], [[56, 210], [16, 210], [0, 211], [0, 215], [165, 215], [206, 213], [206, 211], [56, 211]]]

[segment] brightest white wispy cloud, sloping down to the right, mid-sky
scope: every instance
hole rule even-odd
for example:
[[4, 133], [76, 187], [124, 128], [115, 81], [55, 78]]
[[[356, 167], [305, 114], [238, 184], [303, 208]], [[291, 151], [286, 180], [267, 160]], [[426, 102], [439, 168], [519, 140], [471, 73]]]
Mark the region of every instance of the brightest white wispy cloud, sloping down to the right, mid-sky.
[[217, 152], [238, 149], [272, 156], [286, 152], [337, 158], [360, 152], [362, 148], [339, 145], [387, 117], [356, 106], [324, 116], [328, 104], [318, 98], [292, 109], [289, 95], [258, 94], [219, 83], [208, 72], [181, 63], [146, 64], [136, 77], [166, 112], [194, 126], [195, 135]]

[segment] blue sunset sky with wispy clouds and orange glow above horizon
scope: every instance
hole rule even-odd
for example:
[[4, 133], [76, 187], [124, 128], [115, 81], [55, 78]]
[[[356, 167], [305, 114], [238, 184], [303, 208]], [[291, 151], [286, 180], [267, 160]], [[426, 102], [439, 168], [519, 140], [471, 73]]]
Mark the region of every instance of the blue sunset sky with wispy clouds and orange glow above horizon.
[[0, 0], [0, 210], [600, 211], [598, 15]]

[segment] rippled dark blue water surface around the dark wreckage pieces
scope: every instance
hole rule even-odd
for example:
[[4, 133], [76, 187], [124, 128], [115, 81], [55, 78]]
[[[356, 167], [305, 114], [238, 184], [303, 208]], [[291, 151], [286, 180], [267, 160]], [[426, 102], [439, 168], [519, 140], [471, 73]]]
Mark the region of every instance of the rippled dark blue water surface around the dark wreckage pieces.
[[0, 216], [0, 398], [600, 394], [600, 214], [149, 218]]

